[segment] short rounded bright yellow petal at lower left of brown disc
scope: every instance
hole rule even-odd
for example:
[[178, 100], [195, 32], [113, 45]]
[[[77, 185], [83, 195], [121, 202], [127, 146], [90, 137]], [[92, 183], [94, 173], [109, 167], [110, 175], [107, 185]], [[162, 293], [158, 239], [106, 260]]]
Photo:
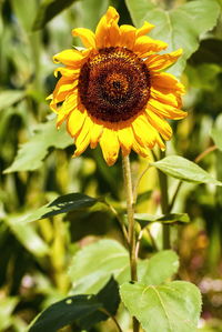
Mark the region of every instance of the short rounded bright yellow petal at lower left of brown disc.
[[77, 108], [73, 112], [70, 113], [67, 121], [67, 130], [71, 137], [75, 137], [78, 132], [81, 130], [84, 120], [87, 117], [87, 111], [82, 111]]

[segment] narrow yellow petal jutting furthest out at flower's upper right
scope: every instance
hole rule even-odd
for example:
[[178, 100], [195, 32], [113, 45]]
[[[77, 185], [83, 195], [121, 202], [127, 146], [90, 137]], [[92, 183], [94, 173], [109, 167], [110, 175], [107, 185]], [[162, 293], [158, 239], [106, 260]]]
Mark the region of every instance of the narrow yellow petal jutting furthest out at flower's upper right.
[[179, 49], [167, 54], [153, 54], [145, 60], [145, 64], [151, 70], [163, 70], [174, 63], [181, 57], [183, 50]]

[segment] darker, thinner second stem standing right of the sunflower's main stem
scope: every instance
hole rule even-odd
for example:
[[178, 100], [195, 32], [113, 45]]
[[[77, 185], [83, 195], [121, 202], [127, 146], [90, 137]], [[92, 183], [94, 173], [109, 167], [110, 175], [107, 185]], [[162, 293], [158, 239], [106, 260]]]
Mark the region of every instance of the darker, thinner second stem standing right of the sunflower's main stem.
[[[161, 151], [161, 159], [165, 157], [165, 153]], [[169, 213], [169, 195], [168, 195], [168, 178], [161, 171], [158, 171], [161, 189], [161, 209], [162, 213]], [[163, 225], [163, 249], [170, 249], [170, 225]]]

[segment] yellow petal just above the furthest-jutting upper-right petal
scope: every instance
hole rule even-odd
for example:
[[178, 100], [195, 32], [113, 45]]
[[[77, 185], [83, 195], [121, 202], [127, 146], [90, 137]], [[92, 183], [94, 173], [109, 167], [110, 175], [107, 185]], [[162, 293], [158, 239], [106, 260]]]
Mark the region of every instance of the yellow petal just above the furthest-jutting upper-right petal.
[[137, 39], [133, 51], [142, 57], [148, 57], [153, 52], [164, 50], [168, 44], [161, 40], [154, 40], [148, 36], [141, 36]]

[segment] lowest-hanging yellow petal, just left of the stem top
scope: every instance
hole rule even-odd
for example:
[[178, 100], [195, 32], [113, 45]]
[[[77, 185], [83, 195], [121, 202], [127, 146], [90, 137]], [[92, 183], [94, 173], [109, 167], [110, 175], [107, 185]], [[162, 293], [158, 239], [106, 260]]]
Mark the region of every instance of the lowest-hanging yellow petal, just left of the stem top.
[[102, 154], [108, 165], [112, 165], [119, 154], [120, 143], [118, 141], [117, 132], [112, 129], [104, 128], [100, 139]]

